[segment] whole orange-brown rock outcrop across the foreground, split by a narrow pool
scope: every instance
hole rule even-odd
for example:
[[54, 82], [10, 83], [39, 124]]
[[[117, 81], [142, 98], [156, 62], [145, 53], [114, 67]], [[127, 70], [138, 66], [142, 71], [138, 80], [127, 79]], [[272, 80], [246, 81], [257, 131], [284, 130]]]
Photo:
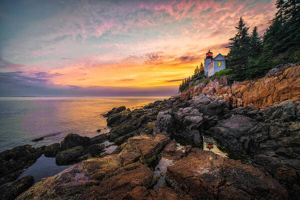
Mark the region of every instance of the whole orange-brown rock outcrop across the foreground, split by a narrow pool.
[[[165, 179], [151, 170], [170, 158]], [[112, 154], [83, 160], [43, 178], [16, 199], [287, 199], [285, 188], [259, 168], [213, 152], [178, 148], [161, 134], [130, 137]]]

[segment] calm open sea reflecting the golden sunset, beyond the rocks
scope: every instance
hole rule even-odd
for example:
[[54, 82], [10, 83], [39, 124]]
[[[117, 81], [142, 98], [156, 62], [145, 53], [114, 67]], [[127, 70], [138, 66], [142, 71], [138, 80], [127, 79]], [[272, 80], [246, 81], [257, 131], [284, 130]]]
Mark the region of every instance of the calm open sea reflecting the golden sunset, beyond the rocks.
[[[69, 133], [93, 137], [108, 132], [101, 114], [125, 105], [133, 109], [166, 97], [0, 97], [0, 151], [60, 142]], [[44, 136], [43, 140], [30, 141]]]

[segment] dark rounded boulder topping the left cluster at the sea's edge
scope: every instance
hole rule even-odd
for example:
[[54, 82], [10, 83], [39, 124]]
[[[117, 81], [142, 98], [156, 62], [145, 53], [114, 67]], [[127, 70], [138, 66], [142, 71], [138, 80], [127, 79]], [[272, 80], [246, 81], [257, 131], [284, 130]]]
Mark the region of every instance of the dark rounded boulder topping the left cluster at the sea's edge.
[[72, 148], [77, 145], [87, 146], [90, 144], [89, 137], [83, 137], [78, 134], [68, 133], [60, 142], [61, 150]]

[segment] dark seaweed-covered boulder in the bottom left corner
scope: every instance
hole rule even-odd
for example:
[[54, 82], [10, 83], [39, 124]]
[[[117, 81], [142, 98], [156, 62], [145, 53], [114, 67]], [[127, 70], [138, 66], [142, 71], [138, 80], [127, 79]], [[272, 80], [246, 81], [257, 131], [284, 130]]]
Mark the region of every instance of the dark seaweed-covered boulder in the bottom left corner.
[[34, 182], [31, 175], [24, 176], [0, 188], [2, 200], [13, 200], [23, 191], [27, 190]]

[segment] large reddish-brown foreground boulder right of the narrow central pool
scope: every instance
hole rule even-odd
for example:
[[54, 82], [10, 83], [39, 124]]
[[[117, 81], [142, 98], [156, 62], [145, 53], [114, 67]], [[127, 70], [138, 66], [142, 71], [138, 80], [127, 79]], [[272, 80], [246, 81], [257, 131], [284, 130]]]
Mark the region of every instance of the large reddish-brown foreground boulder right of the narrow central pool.
[[167, 183], [193, 199], [287, 199], [285, 188], [268, 173], [211, 151], [192, 149], [167, 167]]

